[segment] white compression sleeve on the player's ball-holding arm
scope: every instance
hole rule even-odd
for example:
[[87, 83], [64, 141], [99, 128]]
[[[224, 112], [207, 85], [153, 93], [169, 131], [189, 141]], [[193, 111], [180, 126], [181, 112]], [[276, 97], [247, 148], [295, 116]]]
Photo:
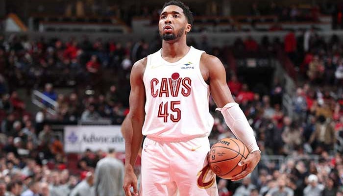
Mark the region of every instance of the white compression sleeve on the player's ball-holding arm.
[[254, 136], [254, 131], [238, 103], [230, 102], [224, 105], [224, 107], [217, 108], [216, 110], [221, 111], [227, 126], [231, 129], [237, 139], [245, 144], [249, 152], [260, 151]]

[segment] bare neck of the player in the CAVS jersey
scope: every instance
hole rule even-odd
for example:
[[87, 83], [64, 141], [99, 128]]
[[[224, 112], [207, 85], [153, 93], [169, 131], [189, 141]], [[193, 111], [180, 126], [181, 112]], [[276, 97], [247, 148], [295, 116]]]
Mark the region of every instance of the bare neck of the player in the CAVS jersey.
[[187, 46], [186, 36], [177, 40], [162, 41], [162, 57], [177, 58], [187, 54], [190, 47]]

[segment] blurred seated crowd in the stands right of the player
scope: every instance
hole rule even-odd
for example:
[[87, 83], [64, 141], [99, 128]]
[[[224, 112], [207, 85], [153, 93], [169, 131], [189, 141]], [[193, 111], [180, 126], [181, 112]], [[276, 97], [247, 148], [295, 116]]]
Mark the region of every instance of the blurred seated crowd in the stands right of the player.
[[[245, 78], [231, 73], [228, 86], [240, 103], [255, 130], [263, 155], [286, 157], [262, 158], [258, 176], [240, 183], [220, 180], [222, 196], [341, 196], [343, 195], [343, 45], [333, 35], [328, 41], [314, 29], [295, 35], [289, 32], [280, 40], [252, 38], [235, 42], [236, 57], [276, 54], [282, 48], [297, 73], [298, 84], [291, 99], [291, 110], [285, 110], [283, 81], [276, 78], [270, 91], [249, 89]], [[281, 45], [280, 45], [281, 44]], [[249, 47], [250, 46], [250, 47]], [[263, 55], [262, 55], [263, 56]], [[287, 70], [287, 69], [286, 69]], [[264, 91], [262, 91], [264, 92]], [[214, 103], [211, 104], [215, 108]], [[216, 116], [212, 142], [233, 137]], [[226, 188], [228, 187], [228, 189]]]

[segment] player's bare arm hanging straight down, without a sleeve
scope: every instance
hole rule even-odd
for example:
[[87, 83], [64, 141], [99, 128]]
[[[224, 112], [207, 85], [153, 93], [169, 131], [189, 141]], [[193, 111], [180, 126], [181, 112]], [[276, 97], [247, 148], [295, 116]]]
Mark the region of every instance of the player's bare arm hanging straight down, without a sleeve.
[[124, 191], [126, 196], [131, 196], [129, 191], [133, 187], [137, 192], [137, 177], [133, 172], [138, 151], [142, 145], [143, 135], [142, 127], [145, 120], [145, 87], [143, 82], [143, 73], [147, 64], [147, 58], [137, 61], [131, 70], [130, 75], [130, 113], [127, 121], [122, 124], [125, 138], [125, 177]]

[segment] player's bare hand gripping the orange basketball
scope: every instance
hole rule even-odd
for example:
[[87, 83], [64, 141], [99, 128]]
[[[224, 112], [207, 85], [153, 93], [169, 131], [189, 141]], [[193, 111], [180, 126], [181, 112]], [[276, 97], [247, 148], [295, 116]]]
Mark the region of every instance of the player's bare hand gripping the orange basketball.
[[258, 162], [260, 161], [260, 159], [261, 159], [261, 152], [260, 151], [254, 151], [254, 152], [250, 153], [245, 160], [241, 161], [238, 164], [239, 166], [246, 165], [245, 170], [243, 172], [241, 172], [240, 174], [233, 176], [231, 181], [238, 181], [238, 180], [245, 178], [245, 176], [247, 176], [249, 173], [251, 173], [255, 169], [255, 167], [258, 164]]

